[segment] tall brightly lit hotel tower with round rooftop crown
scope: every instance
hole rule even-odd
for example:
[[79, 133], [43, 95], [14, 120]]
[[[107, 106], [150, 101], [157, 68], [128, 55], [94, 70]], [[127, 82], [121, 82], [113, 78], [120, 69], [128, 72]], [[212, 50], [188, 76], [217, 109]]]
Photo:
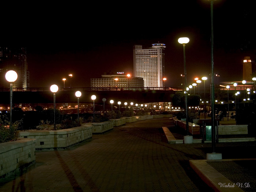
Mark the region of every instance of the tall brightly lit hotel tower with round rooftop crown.
[[133, 46], [133, 76], [144, 79], [144, 87], [164, 87], [165, 44], [152, 44], [143, 49]]

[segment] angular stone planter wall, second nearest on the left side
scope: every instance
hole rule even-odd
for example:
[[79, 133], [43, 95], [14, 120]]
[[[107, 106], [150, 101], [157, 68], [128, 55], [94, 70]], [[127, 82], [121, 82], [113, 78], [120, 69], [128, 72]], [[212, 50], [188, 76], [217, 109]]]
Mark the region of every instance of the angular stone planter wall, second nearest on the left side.
[[56, 131], [21, 131], [20, 137], [37, 139], [35, 149], [58, 149], [67, 148], [86, 139], [92, 138], [92, 125], [82, 125], [70, 129], [60, 129]]

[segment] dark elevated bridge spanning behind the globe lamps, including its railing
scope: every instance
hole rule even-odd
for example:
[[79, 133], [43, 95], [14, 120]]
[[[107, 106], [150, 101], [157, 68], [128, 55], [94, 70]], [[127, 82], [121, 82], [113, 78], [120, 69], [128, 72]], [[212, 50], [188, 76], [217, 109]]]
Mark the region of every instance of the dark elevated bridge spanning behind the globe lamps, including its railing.
[[[95, 103], [103, 103], [111, 99], [114, 102], [172, 102], [176, 91], [182, 91], [182, 87], [60, 87], [56, 92], [56, 103], [75, 103], [76, 91], [81, 91], [80, 103], [91, 103], [91, 95], [96, 95]], [[0, 103], [10, 103], [10, 88], [0, 88]], [[53, 93], [50, 88], [31, 87], [13, 88], [14, 103], [52, 103]]]

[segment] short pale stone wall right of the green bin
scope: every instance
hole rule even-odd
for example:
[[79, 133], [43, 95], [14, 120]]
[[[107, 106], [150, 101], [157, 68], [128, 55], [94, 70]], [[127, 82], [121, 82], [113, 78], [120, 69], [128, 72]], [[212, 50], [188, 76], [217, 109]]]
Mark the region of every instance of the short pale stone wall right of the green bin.
[[248, 134], [248, 125], [219, 125], [219, 135]]

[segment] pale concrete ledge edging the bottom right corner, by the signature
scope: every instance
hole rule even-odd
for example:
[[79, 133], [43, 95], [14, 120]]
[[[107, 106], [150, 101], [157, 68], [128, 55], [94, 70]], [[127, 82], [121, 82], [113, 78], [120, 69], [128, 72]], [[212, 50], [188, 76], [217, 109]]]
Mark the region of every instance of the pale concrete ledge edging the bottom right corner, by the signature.
[[[244, 160], [244, 159], [222, 159], [222, 160], [208, 160], [208, 161], [233, 161], [233, 160]], [[228, 178], [219, 173], [216, 169], [214, 169], [211, 165], [207, 163], [207, 160], [189, 160], [189, 164], [193, 170], [198, 174], [200, 178], [214, 191], [221, 192], [242, 192], [243, 190], [235, 185], [234, 187], [221, 187], [219, 183], [230, 183], [234, 182], [230, 181]]]

